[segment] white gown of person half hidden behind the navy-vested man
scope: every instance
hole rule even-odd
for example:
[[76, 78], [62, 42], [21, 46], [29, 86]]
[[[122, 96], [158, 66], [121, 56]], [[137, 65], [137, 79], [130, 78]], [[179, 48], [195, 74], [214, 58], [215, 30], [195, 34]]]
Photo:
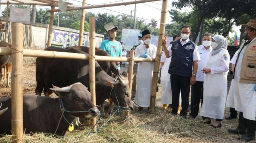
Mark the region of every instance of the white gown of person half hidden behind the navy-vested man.
[[[167, 50], [171, 49], [167, 47]], [[162, 56], [165, 56], [163, 53]], [[171, 75], [168, 73], [169, 66], [171, 63], [171, 57], [165, 59], [165, 63], [162, 67], [162, 75], [161, 75], [161, 86], [162, 86], [162, 96], [161, 96], [161, 104], [172, 104], [172, 88], [171, 88]]]

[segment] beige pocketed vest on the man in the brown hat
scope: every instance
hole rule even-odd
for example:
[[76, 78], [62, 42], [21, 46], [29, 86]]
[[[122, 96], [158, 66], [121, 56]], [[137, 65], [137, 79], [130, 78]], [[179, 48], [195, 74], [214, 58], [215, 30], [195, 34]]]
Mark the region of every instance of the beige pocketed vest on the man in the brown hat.
[[[244, 44], [245, 42], [241, 44], [239, 52], [244, 47]], [[245, 48], [239, 82], [256, 83], [256, 40], [250, 42]]]

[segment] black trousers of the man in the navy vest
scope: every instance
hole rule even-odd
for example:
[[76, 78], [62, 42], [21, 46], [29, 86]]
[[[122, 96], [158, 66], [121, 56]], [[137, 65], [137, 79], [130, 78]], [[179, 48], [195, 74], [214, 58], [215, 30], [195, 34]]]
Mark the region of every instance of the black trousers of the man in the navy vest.
[[181, 115], [186, 115], [189, 107], [190, 77], [171, 75], [172, 112], [177, 114], [179, 93], [181, 92]]

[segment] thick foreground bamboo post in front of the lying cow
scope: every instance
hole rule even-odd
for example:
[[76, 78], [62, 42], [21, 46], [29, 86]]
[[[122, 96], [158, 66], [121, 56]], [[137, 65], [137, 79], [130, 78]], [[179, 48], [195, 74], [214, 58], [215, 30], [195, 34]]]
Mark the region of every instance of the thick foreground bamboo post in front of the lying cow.
[[23, 24], [12, 24], [12, 143], [23, 138]]

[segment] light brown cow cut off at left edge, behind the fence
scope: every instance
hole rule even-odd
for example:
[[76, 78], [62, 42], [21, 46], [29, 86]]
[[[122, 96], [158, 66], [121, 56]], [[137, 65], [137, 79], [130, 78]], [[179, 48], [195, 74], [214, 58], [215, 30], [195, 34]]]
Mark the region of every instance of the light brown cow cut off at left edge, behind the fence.
[[[8, 44], [7, 42], [0, 42], [0, 47], [12, 47], [12, 45]], [[10, 87], [10, 75], [12, 72], [12, 56], [11, 55], [0, 55], [0, 81], [3, 78], [3, 68], [6, 65], [6, 72], [7, 72], [7, 83], [6, 87]]]

